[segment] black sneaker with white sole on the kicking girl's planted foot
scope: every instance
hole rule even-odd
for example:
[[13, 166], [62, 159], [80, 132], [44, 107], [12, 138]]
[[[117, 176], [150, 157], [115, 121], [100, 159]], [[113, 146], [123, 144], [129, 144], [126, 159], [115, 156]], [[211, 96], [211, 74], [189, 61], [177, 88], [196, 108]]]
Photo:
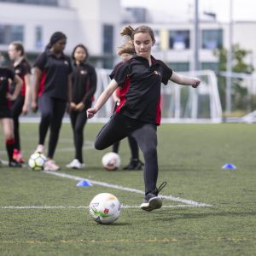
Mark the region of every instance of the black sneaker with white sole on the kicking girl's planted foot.
[[160, 209], [162, 207], [162, 198], [158, 196], [161, 189], [166, 187], [166, 182], [163, 182], [160, 184], [160, 187], [156, 189], [154, 194], [149, 193], [146, 195], [145, 199], [143, 200], [143, 203], [141, 204], [141, 209], [147, 212], [151, 212], [156, 209]]

